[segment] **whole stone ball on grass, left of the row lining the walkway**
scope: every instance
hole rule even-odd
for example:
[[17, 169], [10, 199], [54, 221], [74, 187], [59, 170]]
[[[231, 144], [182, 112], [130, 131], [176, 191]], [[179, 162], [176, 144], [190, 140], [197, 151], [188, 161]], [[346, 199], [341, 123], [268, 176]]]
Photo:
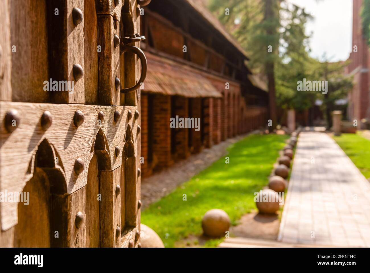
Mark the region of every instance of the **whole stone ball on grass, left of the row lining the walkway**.
[[229, 230], [230, 218], [228, 214], [218, 208], [207, 211], [202, 219], [203, 233], [210, 237], [225, 236]]

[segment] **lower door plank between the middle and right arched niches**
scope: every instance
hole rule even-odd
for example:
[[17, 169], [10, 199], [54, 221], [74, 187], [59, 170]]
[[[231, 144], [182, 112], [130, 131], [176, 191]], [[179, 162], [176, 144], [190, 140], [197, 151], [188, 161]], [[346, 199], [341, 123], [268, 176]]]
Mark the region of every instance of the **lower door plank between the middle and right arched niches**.
[[121, 193], [117, 185], [121, 182], [121, 167], [113, 171], [100, 172], [100, 246], [121, 245]]

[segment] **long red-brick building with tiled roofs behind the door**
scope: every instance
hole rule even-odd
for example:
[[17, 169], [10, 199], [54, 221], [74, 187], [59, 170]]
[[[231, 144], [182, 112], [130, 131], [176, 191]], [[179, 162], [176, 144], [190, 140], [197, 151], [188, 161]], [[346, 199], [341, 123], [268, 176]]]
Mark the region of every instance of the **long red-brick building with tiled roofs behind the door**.
[[[144, 7], [141, 47], [148, 74], [141, 91], [142, 175], [227, 138], [268, 124], [266, 84], [252, 75], [244, 50], [194, 0]], [[171, 118], [200, 118], [200, 130], [171, 128]]]

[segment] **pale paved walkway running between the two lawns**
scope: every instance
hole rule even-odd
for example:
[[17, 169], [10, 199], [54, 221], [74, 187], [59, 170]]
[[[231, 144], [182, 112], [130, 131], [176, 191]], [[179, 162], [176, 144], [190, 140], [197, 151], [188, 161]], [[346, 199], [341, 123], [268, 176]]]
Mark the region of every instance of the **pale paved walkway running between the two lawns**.
[[299, 135], [278, 240], [370, 247], [370, 184], [327, 134]]

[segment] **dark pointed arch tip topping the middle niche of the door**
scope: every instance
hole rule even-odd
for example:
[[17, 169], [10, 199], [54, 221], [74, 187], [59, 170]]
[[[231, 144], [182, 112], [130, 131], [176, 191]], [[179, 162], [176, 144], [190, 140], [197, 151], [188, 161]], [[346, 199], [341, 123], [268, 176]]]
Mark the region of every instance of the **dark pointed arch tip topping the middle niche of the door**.
[[105, 137], [102, 129], [99, 129], [92, 146], [92, 151], [97, 156], [98, 159], [98, 168], [100, 171], [111, 170], [111, 155], [109, 151], [109, 145], [107, 137]]

